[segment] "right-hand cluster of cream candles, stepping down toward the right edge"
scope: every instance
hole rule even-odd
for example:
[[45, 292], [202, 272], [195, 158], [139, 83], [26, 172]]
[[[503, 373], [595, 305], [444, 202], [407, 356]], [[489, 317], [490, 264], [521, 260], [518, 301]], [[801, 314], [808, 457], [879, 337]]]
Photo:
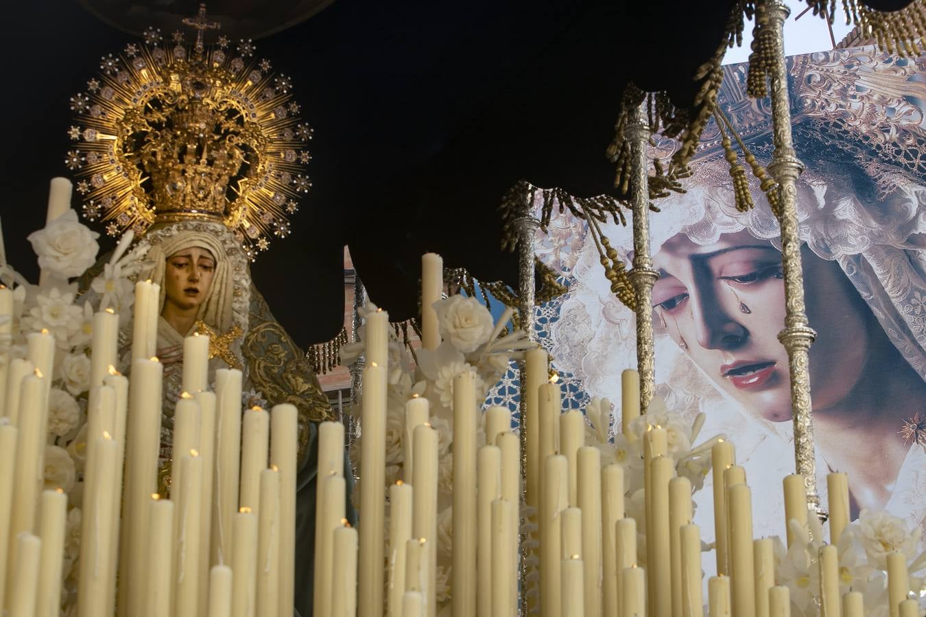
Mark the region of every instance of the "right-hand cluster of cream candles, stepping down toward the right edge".
[[[425, 255], [422, 278], [422, 342], [439, 344], [436, 321], [427, 309], [439, 299], [439, 257]], [[407, 401], [403, 481], [389, 487], [389, 542], [384, 538], [387, 503], [385, 404], [388, 315], [367, 321], [361, 426], [359, 586], [352, 597], [354, 544], [343, 527], [344, 428], [331, 424], [319, 432], [319, 512], [316, 540], [316, 614], [382, 614], [433, 617], [436, 558], [437, 436], [428, 423], [428, 403]], [[435, 339], [436, 337], [436, 339]], [[638, 564], [637, 524], [624, 509], [623, 470], [602, 467], [600, 453], [584, 445], [585, 419], [562, 412], [559, 387], [548, 380], [543, 350], [526, 353], [524, 406], [527, 512], [539, 527], [540, 612], [544, 617], [694, 617], [704, 610], [701, 532], [692, 523], [690, 481], [676, 475], [668, 451], [668, 432], [644, 432], [645, 563]], [[639, 376], [622, 376], [620, 429], [626, 438], [640, 414]], [[484, 414], [486, 445], [477, 449], [477, 401], [469, 374], [453, 389], [453, 564], [455, 617], [513, 617], [517, 613], [519, 568], [519, 438], [510, 414], [489, 408]], [[717, 574], [707, 581], [710, 617], [786, 617], [791, 603], [786, 586], [777, 586], [771, 538], [754, 539], [751, 487], [735, 463], [731, 442], [714, 438], [695, 452], [710, 452], [714, 475]], [[325, 476], [327, 474], [327, 476]], [[804, 478], [783, 479], [785, 515], [807, 527]], [[862, 595], [839, 593], [838, 537], [849, 522], [845, 474], [828, 476], [831, 544], [820, 549], [821, 614], [862, 617]], [[333, 505], [332, 505], [333, 504]], [[816, 515], [816, 514], [812, 514]], [[795, 541], [789, 527], [789, 544]], [[350, 556], [343, 550], [349, 549]], [[383, 568], [382, 564], [386, 567]], [[348, 571], [341, 573], [339, 568]], [[888, 559], [892, 617], [918, 614], [907, 598], [909, 580], [900, 554]], [[339, 581], [335, 584], [334, 581]], [[529, 583], [536, 584], [536, 583]], [[383, 598], [383, 589], [387, 598]], [[327, 595], [329, 593], [331, 595]], [[526, 590], [521, 589], [521, 593]]]

